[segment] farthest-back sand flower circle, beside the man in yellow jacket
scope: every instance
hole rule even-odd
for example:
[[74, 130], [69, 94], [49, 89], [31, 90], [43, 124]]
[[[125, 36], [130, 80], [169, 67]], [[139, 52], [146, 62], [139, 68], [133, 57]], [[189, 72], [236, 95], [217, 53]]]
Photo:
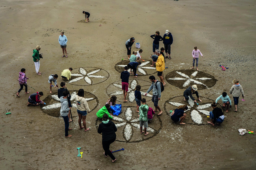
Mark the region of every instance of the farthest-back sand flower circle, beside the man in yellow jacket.
[[[122, 60], [121, 62], [117, 63], [115, 65], [116, 71], [121, 73], [122, 71], [124, 71], [124, 66], [127, 66], [127, 64], [129, 63], [130, 61], [128, 60]], [[152, 63], [152, 61], [149, 61], [149, 60], [145, 60], [145, 62], [141, 62], [141, 64], [137, 67], [136, 74], [138, 74], [138, 76], [147, 76], [147, 75], [156, 73], [156, 67], [151, 67], [150, 63]]]

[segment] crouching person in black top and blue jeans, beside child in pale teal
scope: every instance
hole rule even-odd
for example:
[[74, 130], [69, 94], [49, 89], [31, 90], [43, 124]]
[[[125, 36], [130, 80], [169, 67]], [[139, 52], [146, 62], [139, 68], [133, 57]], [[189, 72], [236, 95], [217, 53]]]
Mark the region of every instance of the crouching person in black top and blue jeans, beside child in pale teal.
[[207, 123], [212, 124], [212, 126], [214, 126], [215, 123], [222, 123], [224, 121], [225, 116], [223, 115], [221, 108], [217, 107], [217, 103], [215, 102], [213, 102], [211, 106], [213, 108], [212, 112], [210, 112], [211, 121], [208, 121]]

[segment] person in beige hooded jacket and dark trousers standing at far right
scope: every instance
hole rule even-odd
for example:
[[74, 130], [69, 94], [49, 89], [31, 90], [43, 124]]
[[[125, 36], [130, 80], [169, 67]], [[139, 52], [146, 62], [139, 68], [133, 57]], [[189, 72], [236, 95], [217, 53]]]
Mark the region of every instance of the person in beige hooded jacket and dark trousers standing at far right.
[[239, 81], [238, 81], [237, 78], [233, 80], [233, 84], [234, 85], [232, 85], [229, 93], [232, 94], [232, 96], [233, 96], [234, 105], [235, 105], [235, 108], [236, 108], [234, 111], [236, 112], [237, 111], [238, 99], [239, 99], [239, 96], [240, 96], [241, 93], [242, 93], [242, 96], [244, 98], [244, 90], [243, 90], [242, 85], [239, 84]]

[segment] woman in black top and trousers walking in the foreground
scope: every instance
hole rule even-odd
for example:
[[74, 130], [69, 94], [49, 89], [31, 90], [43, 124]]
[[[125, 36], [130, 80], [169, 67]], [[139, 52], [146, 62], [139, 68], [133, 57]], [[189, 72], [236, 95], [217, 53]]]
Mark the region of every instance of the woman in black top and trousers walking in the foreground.
[[115, 123], [108, 120], [108, 115], [104, 114], [102, 117], [102, 123], [100, 123], [98, 128], [98, 133], [102, 133], [102, 147], [105, 151], [103, 154], [105, 157], [108, 157], [109, 155], [112, 162], [115, 162], [116, 158], [109, 150], [109, 146], [116, 140], [116, 131]]

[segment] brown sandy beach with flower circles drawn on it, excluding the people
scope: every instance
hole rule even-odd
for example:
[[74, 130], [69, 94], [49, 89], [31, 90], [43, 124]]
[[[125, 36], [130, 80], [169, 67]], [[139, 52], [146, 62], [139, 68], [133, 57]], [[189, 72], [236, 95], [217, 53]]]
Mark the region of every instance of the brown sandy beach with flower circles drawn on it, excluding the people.
[[[252, 0], [1, 0], [0, 169], [255, 169], [255, 134], [238, 134], [241, 128], [256, 132], [255, 5]], [[90, 22], [83, 22], [82, 11], [91, 14]], [[172, 59], [165, 63], [165, 90], [159, 100], [163, 113], [154, 115], [149, 135], [144, 136], [138, 126], [134, 88], [140, 84], [141, 92], [146, 92], [151, 85], [149, 76], [159, 79], [156, 70], [149, 68], [153, 54], [150, 35], [159, 31], [163, 36], [166, 29], [172, 33], [173, 44]], [[61, 30], [68, 39], [68, 58], [61, 57]], [[135, 38], [132, 51], [139, 50], [135, 43], [140, 42], [145, 62], [137, 78], [130, 76], [128, 102], [124, 103], [120, 72], [128, 62], [122, 59], [127, 59], [125, 41], [131, 37]], [[36, 45], [43, 53], [42, 75], [36, 75], [32, 58]], [[195, 46], [204, 55], [199, 57], [199, 71], [190, 70]], [[219, 65], [228, 69], [224, 71]], [[50, 94], [48, 77], [58, 74], [60, 85], [61, 72], [69, 67], [77, 74], [72, 79], [81, 79], [66, 81], [68, 90], [74, 96], [83, 88], [92, 111], [86, 118], [90, 130], [84, 132], [79, 130], [73, 107], [73, 122], [69, 123], [73, 136], [65, 138], [57, 89], [52, 88]], [[28, 87], [30, 93], [25, 94], [23, 88], [18, 98], [21, 68], [26, 69], [28, 85], [36, 90]], [[174, 79], [177, 77], [184, 80]], [[222, 92], [233, 102], [229, 90], [235, 78], [243, 86], [244, 101], [241, 95], [237, 112], [232, 104], [224, 113], [224, 122], [213, 127], [207, 123], [206, 112], [212, 111], [209, 104]], [[185, 82], [195, 80], [201, 83], [197, 83], [202, 100], [198, 106], [183, 100]], [[40, 91], [46, 105], [28, 107], [29, 95]], [[102, 155], [102, 137], [97, 133], [101, 121], [96, 119], [97, 111], [113, 94], [122, 104], [122, 113], [113, 120], [118, 128], [110, 150], [124, 148], [114, 153], [115, 163]], [[145, 98], [153, 107], [151, 97]], [[177, 103], [190, 108], [185, 125], [171, 120], [170, 110], [177, 108]], [[221, 105], [219, 100], [218, 107]], [[11, 114], [5, 115], [5, 107]], [[83, 158], [77, 157], [78, 147]]]

